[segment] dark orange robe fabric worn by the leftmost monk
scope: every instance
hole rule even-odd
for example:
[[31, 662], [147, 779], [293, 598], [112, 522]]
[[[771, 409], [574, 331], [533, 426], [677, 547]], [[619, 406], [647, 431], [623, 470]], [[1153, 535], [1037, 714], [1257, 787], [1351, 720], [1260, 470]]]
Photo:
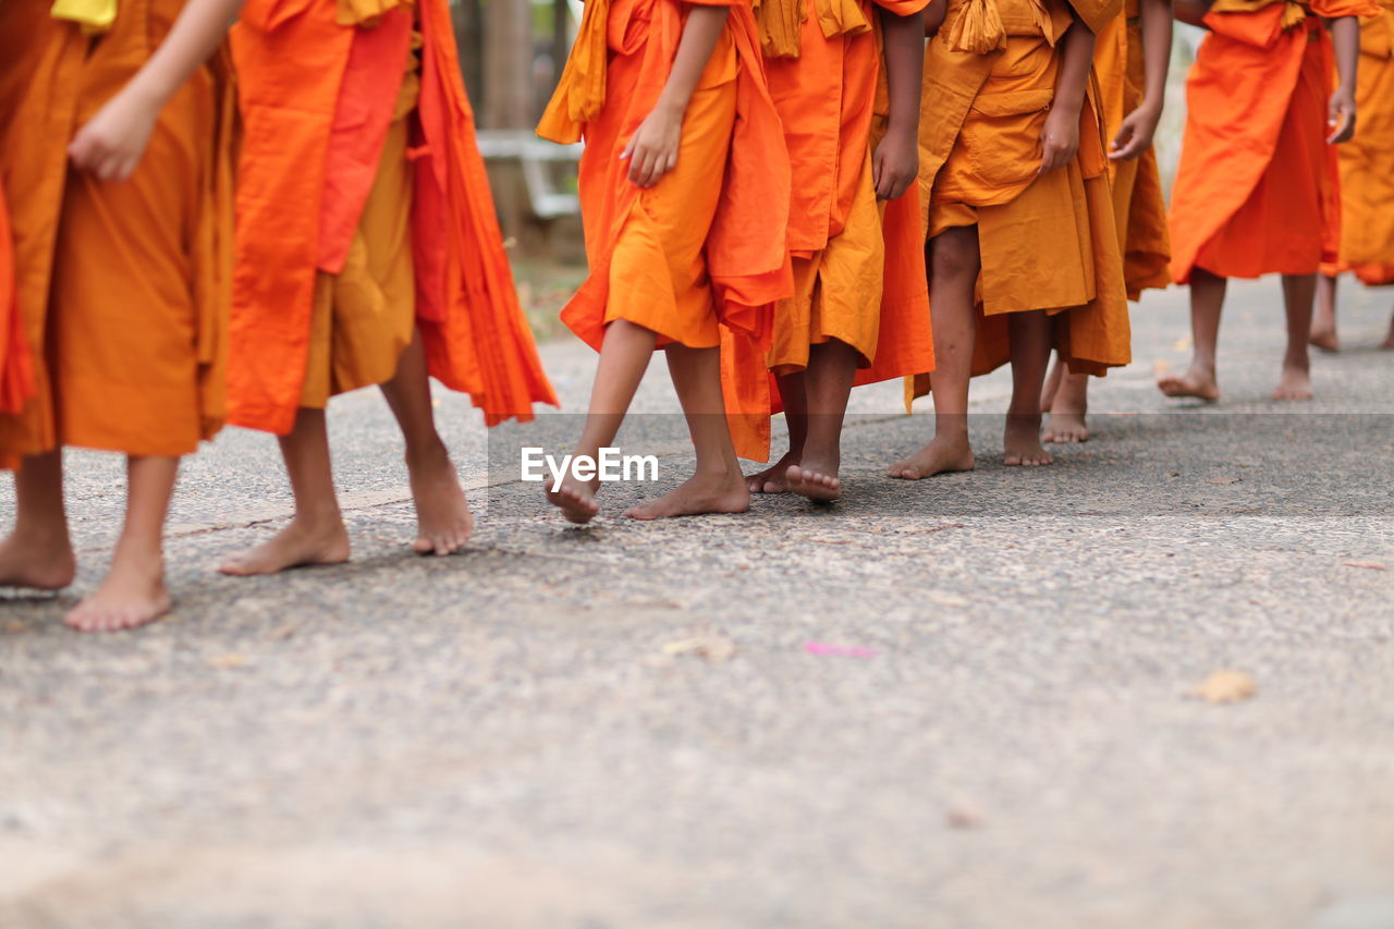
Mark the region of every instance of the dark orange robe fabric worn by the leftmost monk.
[[176, 456], [223, 421], [231, 105], [217, 59], [160, 112], [135, 174], [107, 184], [67, 145], [149, 60], [183, 0], [127, 0], [93, 38], [42, 3], [0, 4], [0, 183], [33, 396], [0, 456], [60, 445]]

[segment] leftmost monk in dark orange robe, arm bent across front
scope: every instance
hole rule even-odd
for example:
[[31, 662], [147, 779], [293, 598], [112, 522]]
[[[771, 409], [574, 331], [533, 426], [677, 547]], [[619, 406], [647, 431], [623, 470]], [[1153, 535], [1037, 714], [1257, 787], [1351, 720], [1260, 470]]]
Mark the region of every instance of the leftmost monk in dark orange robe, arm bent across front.
[[237, 7], [0, 3], [0, 186], [31, 364], [18, 410], [8, 374], [0, 403], [18, 497], [0, 584], [71, 583], [61, 448], [124, 452], [125, 524], [105, 580], [67, 615], [78, 629], [170, 608], [178, 460], [222, 424], [233, 107], [226, 70], [205, 61]]

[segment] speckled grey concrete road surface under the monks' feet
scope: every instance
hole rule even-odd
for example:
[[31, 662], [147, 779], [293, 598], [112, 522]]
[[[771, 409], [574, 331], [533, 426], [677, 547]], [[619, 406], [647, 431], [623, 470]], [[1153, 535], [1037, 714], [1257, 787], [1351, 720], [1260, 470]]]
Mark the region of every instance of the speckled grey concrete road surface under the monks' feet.
[[[71, 455], [79, 583], [0, 600], [0, 925], [1388, 929], [1394, 571], [1351, 562], [1394, 569], [1394, 354], [1388, 297], [1344, 301], [1351, 350], [1284, 407], [1277, 285], [1235, 287], [1225, 400], [1188, 409], [1151, 388], [1185, 294], [1149, 296], [1052, 469], [999, 464], [994, 375], [981, 467], [888, 481], [928, 420], [859, 392], [835, 508], [637, 524], [626, 487], [569, 529], [507, 462], [577, 420], [485, 437], [442, 395], [481, 513], [449, 559], [403, 551], [364, 392], [351, 565], [210, 573], [289, 509], [229, 432], [184, 471], [176, 614], [116, 636], [59, 621], [121, 506], [120, 462]], [[592, 357], [545, 356], [577, 409]], [[659, 367], [625, 445], [666, 483]], [[1186, 696], [1227, 667], [1252, 700]]]

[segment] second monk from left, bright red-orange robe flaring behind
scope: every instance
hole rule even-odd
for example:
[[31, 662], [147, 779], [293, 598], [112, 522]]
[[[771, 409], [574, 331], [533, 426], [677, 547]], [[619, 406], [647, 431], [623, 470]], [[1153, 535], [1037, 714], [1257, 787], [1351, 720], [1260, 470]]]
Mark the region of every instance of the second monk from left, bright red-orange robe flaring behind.
[[244, 121], [229, 421], [280, 437], [296, 516], [222, 571], [348, 558], [325, 406], [381, 385], [406, 439], [418, 554], [471, 518], [428, 375], [488, 424], [555, 403], [474, 141], [446, 0], [251, 0], [233, 31]]

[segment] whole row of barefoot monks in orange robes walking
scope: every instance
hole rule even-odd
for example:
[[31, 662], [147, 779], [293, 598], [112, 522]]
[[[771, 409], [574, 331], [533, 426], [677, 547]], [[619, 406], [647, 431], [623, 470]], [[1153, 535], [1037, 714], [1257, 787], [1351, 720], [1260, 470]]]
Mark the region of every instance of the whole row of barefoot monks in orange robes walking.
[[[1210, 35], [1168, 236], [1174, 15]], [[1230, 276], [1282, 275], [1276, 396], [1310, 396], [1309, 342], [1337, 346], [1319, 273], [1394, 283], [1391, 27], [1373, 0], [587, 0], [538, 128], [585, 142], [590, 276], [562, 318], [599, 363], [574, 456], [613, 444], [662, 347], [696, 470], [637, 519], [836, 499], [849, 393], [891, 378], [933, 393], [935, 432], [888, 474], [972, 469], [969, 382], [1006, 363], [1005, 462], [1048, 464], [1089, 437], [1147, 287], [1192, 287], [1195, 361], [1158, 386], [1218, 396]], [[275, 434], [294, 491], [220, 566], [265, 575], [348, 558], [330, 396], [382, 388], [413, 547], [439, 555], [471, 519], [429, 378], [491, 425], [556, 402], [447, 0], [0, 0], [0, 584], [74, 577], [64, 445], [128, 462], [79, 629], [170, 608], [178, 462], [224, 424]], [[743, 474], [779, 411], [788, 449]], [[584, 523], [598, 488], [548, 498]]]

